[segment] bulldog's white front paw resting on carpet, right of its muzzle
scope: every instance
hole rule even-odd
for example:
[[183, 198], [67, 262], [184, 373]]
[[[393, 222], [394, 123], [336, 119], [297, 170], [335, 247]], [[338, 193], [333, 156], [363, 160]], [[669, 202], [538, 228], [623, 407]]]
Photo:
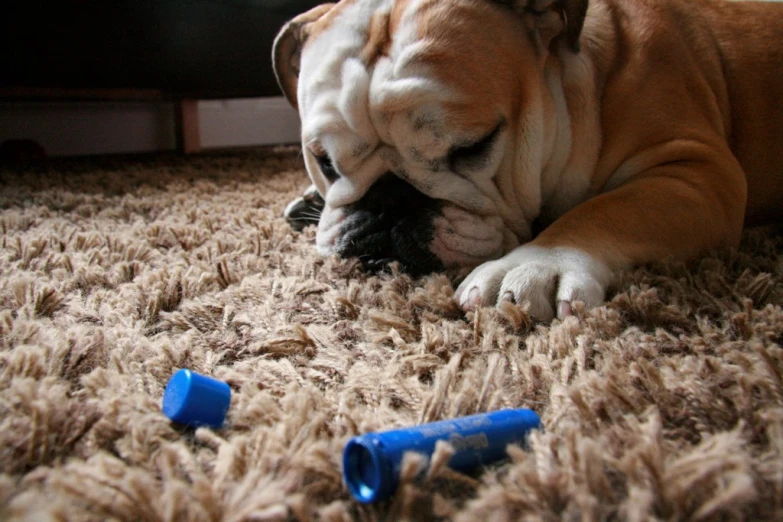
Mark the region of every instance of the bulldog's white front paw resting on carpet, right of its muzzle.
[[501, 300], [529, 303], [533, 317], [551, 321], [571, 315], [574, 301], [601, 304], [611, 277], [608, 266], [581, 250], [523, 245], [476, 267], [454, 298], [465, 311]]

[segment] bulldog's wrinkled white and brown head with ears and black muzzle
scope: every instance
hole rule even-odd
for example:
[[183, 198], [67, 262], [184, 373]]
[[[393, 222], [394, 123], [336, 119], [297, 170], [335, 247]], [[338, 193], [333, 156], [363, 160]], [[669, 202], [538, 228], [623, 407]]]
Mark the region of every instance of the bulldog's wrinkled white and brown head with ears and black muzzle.
[[273, 59], [325, 201], [319, 250], [428, 272], [529, 240], [556, 133], [546, 57], [578, 50], [586, 10], [342, 0], [289, 22]]

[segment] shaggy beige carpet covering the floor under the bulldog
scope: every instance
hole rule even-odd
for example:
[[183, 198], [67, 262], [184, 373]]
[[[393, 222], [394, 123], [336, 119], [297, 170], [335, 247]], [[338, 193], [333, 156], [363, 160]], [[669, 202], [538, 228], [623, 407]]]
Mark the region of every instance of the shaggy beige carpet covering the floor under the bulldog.
[[[536, 325], [318, 257], [306, 185], [294, 148], [2, 172], [0, 519], [783, 519], [776, 231]], [[223, 429], [161, 414], [183, 367], [231, 385]], [[350, 500], [350, 436], [504, 407], [530, 451]]]

